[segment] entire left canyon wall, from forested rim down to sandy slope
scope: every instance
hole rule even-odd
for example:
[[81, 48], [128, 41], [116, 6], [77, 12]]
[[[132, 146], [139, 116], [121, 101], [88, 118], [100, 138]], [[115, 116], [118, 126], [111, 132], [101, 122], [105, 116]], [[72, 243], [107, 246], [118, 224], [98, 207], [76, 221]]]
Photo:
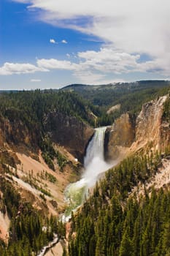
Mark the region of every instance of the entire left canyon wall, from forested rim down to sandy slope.
[[[58, 216], [65, 208], [63, 191], [80, 176], [93, 135], [91, 111], [70, 93], [24, 91], [0, 98], [0, 178], [41, 216]], [[0, 237], [7, 240], [12, 216], [3, 189]]]

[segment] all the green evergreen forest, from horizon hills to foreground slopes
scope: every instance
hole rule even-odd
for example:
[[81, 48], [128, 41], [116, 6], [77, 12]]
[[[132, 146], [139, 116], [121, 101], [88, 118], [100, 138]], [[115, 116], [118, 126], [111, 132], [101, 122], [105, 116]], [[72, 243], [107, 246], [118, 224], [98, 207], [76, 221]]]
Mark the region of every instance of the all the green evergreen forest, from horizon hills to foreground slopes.
[[[139, 82], [104, 87], [73, 85], [63, 90], [10, 91], [0, 94], [1, 130], [6, 121], [22, 124], [32, 135], [30, 149], [42, 150], [42, 157], [54, 170], [66, 159], [53, 147], [47, 136], [48, 113], [72, 116], [91, 127], [112, 124], [127, 111], [136, 118], [144, 102], [167, 94], [169, 82]], [[120, 110], [107, 114], [112, 105]], [[170, 124], [170, 100], [166, 100], [163, 120]], [[3, 124], [3, 125], [2, 125]], [[16, 143], [16, 138], [7, 138]], [[158, 173], [163, 159], [169, 159], [169, 145], [163, 152], [143, 151], [123, 159], [96, 183], [93, 192], [69, 220], [68, 250], [63, 256], [169, 256], [170, 255], [170, 190], [147, 183]], [[66, 225], [56, 217], [37, 211], [12, 185], [4, 159], [0, 162], [0, 211], [10, 219], [9, 239], [0, 240], [1, 256], [38, 255], [53, 240], [66, 238]], [[52, 176], [53, 178], [53, 176]], [[140, 187], [143, 188], [139, 193]]]

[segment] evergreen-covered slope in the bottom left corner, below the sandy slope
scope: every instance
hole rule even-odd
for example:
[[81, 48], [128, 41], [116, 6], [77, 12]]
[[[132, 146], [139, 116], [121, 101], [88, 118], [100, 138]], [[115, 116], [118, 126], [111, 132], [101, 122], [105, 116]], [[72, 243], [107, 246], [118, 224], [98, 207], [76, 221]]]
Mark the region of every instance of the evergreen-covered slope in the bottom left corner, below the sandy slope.
[[3, 197], [1, 211], [10, 218], [9, 238], [0, 240], [1, 256], [32, 256], [53, 240], [54, 234], [64, 238], [65, 225], [56, 217], [45, 217], [30, 203], [20, 197], [19, 192], [5, 178], [0, 184]]

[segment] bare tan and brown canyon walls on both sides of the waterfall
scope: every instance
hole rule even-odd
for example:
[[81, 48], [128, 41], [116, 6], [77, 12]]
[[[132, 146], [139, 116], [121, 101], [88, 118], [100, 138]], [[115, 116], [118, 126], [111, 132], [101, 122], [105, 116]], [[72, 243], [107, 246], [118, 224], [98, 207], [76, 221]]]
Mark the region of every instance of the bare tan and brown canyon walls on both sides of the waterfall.
[[[117, 165], [122, 159], [134, 153], [147, 154], [166, 150], [170, 141], [169, 121], [163, 118], [163, 108], [167, 99], [169, 95], [144, 103], [136, 118], [130, 113], [124, 113], [111, 126], [104, 128], [103, 157], [107, 167], [105, 166], [99, 173]], [[42, 157], [38, 129], [36, 127], [28, 129], [16, 113], [10, 113], [9, 116], [9, 118], [1, 117], [0, 122], [0, 178], [4, 177], [12, 183], [22, 200], [31, 203], [31, 206], [42, 215], [53, 214], [58, 217], [66, 208], [64, 195], [66, 187], [75, 181], [79, 182], [81, 177], [85, 178], [85, 170], [88, 170], [87, 166], [91, 160], [89, 158], [88, 163], [85, 163], [83, 157], [88, 151], [89, 142], [95, 138], [96, 131], [87, 122], [75, 116], [58, 113], [55, 110], [47, 113], [43, 118], [45, 134], [52, 140], [53, 148], [59, 152], [58, 155], [62, 156], [61, 159], [64, 162], [61, 167], [59, 160], [55, 157], [54, 170], [52, 170]], [[85, 170], [83, 170], [83, 164]], [[96, 170], [98, 165], [100, 164], [97, 163], [93, 170]], [[90, 172], [93, 170], [91, 169]], [[147, 188], [161, 188], [169, 185], [169, 176], [169, 159], [163, 159], [158, 173], [147, 181]], [[96, 175], [95, 181], [97, 177], [101, 176]], [[90, 184], [88, 189], [93, 186], [94, 183]], [[144, 194], [144, 187], [138, 184], [134, 187], [134, 191], [139, 195]], [[1, 211], [0, 214], [0, 237], [7, 240], [10, 219], [2, 199], [0, 199], [0, 206], [1, 209], [4, 208], [4, 213]], [[62, 249], [60, 250], [62, 253]]]

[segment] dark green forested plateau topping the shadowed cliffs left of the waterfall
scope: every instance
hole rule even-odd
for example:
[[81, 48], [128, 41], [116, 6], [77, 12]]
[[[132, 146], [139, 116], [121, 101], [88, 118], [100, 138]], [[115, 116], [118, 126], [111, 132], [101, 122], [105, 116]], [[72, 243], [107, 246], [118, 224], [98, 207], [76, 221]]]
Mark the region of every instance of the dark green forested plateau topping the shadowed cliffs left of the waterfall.
[[43, 126], [49, 111], [59, 111], [89, 121], [86, 102], [77, 94], [63, 91], [18, 91], [0, 94], [0, 113], [7, 118], [20, 117], [26, 124]]

